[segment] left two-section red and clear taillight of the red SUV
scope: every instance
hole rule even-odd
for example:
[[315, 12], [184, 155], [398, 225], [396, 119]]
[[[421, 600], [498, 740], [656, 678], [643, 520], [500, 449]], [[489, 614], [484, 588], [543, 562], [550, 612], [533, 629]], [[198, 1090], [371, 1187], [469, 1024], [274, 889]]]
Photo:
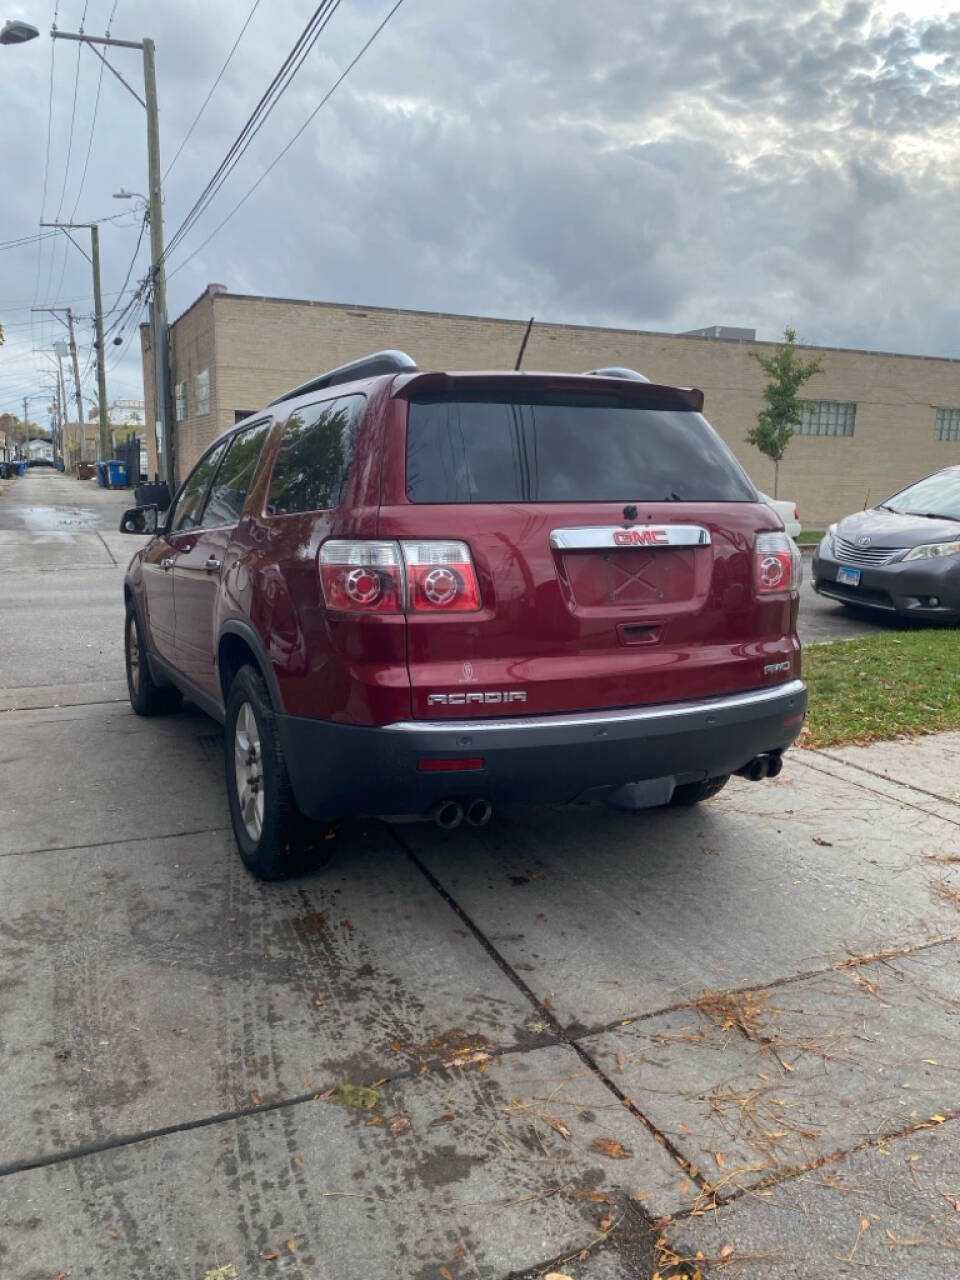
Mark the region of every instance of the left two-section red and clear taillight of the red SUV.
[[480, 585], [466, 543], [324, 543], [320, 582], [329, 608], [351, 613], [475, 613], [480, 608]]

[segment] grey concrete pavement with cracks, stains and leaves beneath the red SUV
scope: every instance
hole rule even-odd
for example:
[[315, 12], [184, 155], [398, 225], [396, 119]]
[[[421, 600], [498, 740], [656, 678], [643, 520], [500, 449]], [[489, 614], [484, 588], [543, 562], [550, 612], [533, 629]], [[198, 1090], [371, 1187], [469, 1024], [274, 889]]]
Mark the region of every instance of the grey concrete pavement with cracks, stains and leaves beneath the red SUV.
[[125, 500], [0, 490], [0, 1275], [954, 1272], [959, 735], [261, 884], [125, 704]]

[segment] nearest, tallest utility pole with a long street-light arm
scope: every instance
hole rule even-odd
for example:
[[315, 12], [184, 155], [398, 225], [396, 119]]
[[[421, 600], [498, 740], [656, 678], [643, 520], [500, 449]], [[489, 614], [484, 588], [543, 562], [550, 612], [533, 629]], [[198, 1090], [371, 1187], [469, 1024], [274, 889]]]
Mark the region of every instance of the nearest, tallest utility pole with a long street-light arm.
[[[100, 61], [114, 73], [124, 88], [128, 90], [145, 109], [147, 114], [147, 165], [148, 165], [148, 191], [150, 191], [150, 279], [152, 284], [151, 301], [151, 348], [154, 355], [154, 422], [159, 426], [161, 435], [161, 471], [163, 477], [174, 490], [175, 483], [175, 453], [173, 439], [173, 413], [170, 412], [170, 361], [168, 355], [168, 319], [166, 319], [166, 269], [164, 266], [164, 212], [163, 212], [163, 170], [160, 168], [160, 123], [157, 118], [156, 102], [156, 46], [152, 40], [115, 40], [113, 36], [87, 36], [83, 32], [74, 33], [56, 31], [50, 35], [54, 40], [74, 40], [88, 45]], [[116, 68], [96, 47], [97, 45], [111, 49], [138, 49], [143, 55], [143, 97], [132, 88], [120, 76]]]

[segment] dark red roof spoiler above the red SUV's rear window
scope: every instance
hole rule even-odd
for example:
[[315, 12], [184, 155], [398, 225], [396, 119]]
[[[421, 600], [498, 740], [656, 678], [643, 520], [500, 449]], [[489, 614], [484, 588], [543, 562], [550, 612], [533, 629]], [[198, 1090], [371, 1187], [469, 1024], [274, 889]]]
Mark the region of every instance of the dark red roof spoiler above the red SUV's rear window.
[[596, 374], [513, 374], [513, 372], [411, 372], [398, 374], [390, 396], [411, 399], [415, 396], [444, 396], [453, 398], [458, 392], [476, 398], [483, 392], [498, 396], [517, 396], [538, 392], [572, 392], [589, 396], [591, 392], [614, 394], [625, 404], [644, 404], [657, 408], [690, 410], [703, 412], [704, 394], [696, 387], [667, 387], [660, 383], [636, 381], [618, 376]]

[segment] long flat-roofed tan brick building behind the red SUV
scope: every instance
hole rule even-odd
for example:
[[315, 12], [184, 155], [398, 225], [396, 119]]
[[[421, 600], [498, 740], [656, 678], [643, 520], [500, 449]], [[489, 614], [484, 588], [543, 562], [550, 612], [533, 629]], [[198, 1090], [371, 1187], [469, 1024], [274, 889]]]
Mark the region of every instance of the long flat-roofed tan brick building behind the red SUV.
[[[206, 292], [170, 328], [177, 390], [178, 476], [237, 417], [333, 365], [397, 347], [422, 369], [512, 369], [524, 321], [301, 302]], [[749, 333], [749, 330], [748, 330]], [[152, 404], [148, 330], [143, 383]], [[763, 370], [753, 352], [773, 343], [691, 334], [536, 324], [525, 369], [639, 369], [659, 383], [700, 387], [705, 412], [754, 481], [773, 492], [773, 465], [745, 440], [760, 408]], [[960, 463], [960, 360], [805, 348], [823, 371], [804, 388], [804, 434], [781, 466], [781, 497], [808, 527], [823, 527], [913, 480]], [[150, 472], [157, 468], [147, 431]]]

